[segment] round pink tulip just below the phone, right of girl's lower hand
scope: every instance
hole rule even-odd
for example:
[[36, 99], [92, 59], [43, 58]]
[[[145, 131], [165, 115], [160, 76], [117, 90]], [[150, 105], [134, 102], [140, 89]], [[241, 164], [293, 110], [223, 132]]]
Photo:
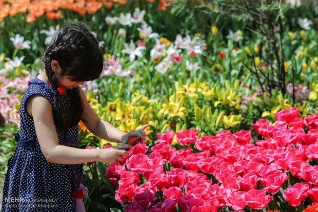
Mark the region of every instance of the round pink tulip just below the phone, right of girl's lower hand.
[[150, 166], [149, 157], [144, 154], [132, 155], [126, 161], [126, 165], [131, 171], [141, 174]]

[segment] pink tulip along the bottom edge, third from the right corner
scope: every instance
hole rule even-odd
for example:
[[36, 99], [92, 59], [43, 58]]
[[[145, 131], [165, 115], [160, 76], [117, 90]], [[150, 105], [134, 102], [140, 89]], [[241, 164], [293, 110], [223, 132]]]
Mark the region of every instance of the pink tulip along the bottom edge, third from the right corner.
[[265, 190], [250, 189], [243, 196], [243, 200], [252, 209], [262, 209], [273, 199], [272, 196], [266, 195]]

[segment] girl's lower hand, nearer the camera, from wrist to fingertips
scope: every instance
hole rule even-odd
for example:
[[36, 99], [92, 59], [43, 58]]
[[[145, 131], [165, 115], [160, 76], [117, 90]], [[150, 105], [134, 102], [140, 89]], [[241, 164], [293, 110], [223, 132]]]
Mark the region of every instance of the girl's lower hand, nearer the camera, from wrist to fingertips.
[[103, 163], [123, 161], [124, 158], [121, 155], [129, 156], [129, 152], [122, 149], [130, 149], [131, 147], [129, 144], [119, 144], [110, 148], [101, 149], [98, 154], [98, 161]]

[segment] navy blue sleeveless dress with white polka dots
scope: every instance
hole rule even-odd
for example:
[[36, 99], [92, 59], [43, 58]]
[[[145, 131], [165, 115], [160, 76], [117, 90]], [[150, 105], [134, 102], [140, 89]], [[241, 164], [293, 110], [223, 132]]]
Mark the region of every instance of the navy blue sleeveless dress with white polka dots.
[[[32, 83], [31, 83], [32, 82]], [[78, 87], [73, 88], [79, 92]], [[17, 147], [8, 161], [8, 171], [3, 189], [2, 211], [72, 211], [71, 165], [50, 163], [44, 157], [39, 146], [33, 118], [25, 109], [28, 97], [39, 94], [53, 104], [53, 90], [46, 82], [37, 78], [30, 80], [28, 89], [20, 105], [21, 135], [16, 138]], [[72, 113], [72, 92], [58, 95], [65, 110]], [[65, 133], [55, 125], [59, 145], [78, 147], [78, 125], [68, 129], [68, 141]], [[48, 138], [50, 139], [50, 138]], [[70, 146], [68, 145], [68, 146]], [[83, 165], [76, 164], [75, 177], [82, 181]]]

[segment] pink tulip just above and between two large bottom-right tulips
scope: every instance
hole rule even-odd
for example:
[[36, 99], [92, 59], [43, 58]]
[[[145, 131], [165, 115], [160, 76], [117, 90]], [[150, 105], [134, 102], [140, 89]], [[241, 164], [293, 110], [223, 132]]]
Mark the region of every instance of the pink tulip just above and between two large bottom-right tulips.
[[261, 184], [267, 193], [276, 194], [288, 178], [285, 173], [280, 175], [268, 175], [266, 178], [261, 178]]

